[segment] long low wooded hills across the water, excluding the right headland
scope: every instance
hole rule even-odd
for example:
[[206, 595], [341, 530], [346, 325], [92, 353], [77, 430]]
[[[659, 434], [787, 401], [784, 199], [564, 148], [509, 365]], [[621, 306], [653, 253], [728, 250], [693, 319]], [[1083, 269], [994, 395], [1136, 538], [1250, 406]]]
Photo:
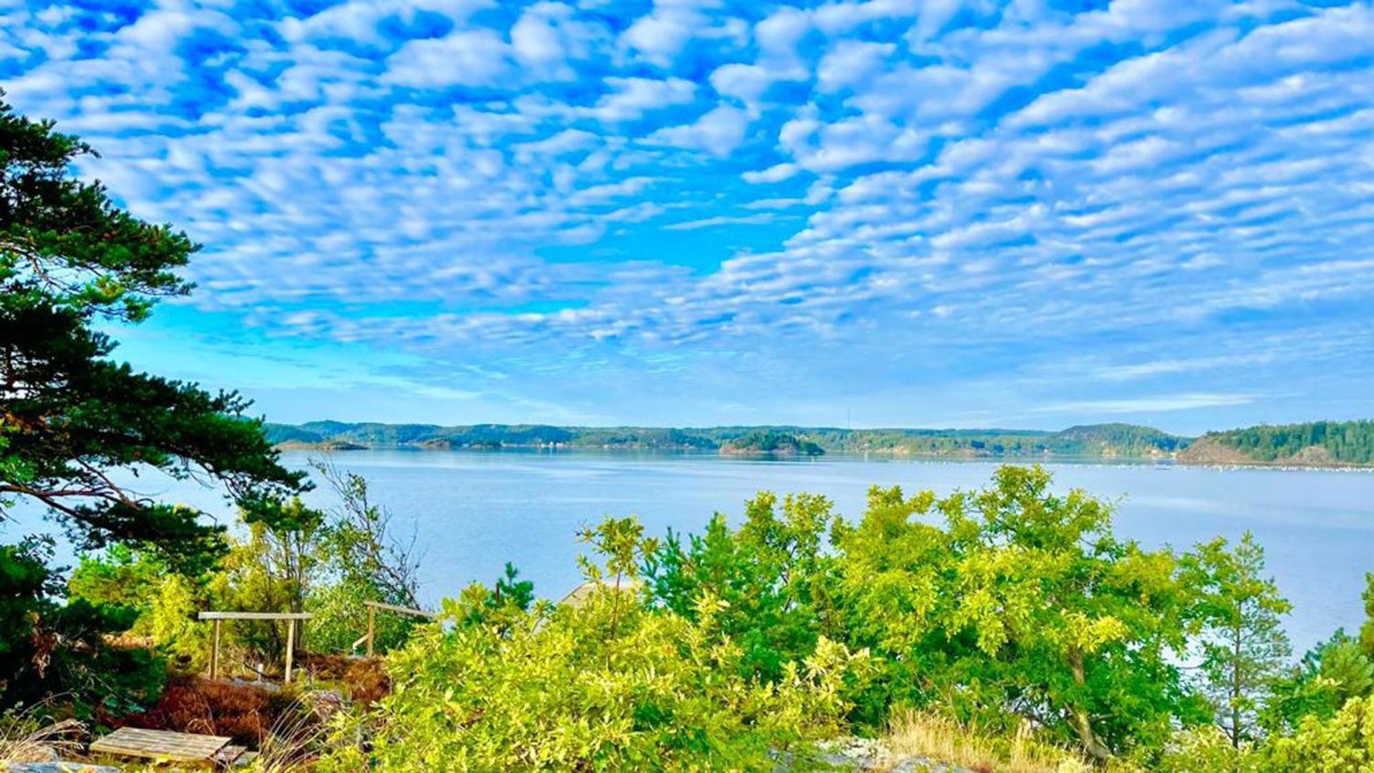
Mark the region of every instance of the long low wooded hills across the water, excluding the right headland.
[[723, 454], [874, 453], [951, 458], [1168, 458], [1187, 437], [1149, 426], [1094, 424], [1061, 432], [1035, 429], [840, 429], [826, 426], [551, 426], [544, 424], [269, 424], [287, 447], [419, 448], [642, 448]]

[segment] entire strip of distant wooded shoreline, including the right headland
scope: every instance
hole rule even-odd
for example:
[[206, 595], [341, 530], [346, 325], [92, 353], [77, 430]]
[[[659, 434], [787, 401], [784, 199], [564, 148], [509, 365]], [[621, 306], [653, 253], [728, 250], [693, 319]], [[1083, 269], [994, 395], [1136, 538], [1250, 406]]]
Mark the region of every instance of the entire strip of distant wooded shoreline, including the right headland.
[[555, 426], [544, 424], [267, 424], [279, 448], [354, 451], [628, 451], [791, 459], [827, 454], [892, 459], [1178, 464], [1265, 469], [1374, 469], [1374, 421], [1259, 425], [1186, 437], [1132, 424], [1041, 429], [833, 426]]

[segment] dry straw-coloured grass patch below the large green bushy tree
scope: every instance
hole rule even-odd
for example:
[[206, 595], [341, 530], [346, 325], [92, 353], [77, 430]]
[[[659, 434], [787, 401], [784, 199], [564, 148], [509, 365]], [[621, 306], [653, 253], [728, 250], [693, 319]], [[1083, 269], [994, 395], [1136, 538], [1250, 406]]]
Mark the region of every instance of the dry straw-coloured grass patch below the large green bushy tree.
[[1036, 740], [1028, 725], [1011, 739], [999, 739], [919, 711], [894, 717], [883, 745], [897, 756], [929, 756], [980, 773], [1085, 773], [1092, 769], [1072, 752]]

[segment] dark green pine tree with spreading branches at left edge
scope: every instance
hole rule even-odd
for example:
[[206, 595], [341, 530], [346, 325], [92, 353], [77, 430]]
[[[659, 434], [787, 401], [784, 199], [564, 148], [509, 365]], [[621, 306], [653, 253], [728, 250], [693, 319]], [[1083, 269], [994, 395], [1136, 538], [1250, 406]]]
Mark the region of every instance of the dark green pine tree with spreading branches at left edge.
[[[304, 476], [280, 466], [236, 393], [111, 359], [115, 344], [98, 327], [140, 322], [157, 300], [188, 293], [177, 271], [196, 248], [77, 179], [73, 164], [89, 154], [51, 121], [0, 100], [0, 520], [19, 502], [38, 505], [82, 550], [137, 545], [172, 571], [201, 574], [223, 550], [221, 530], [120, 480], [150, 468], [195, 475], [249, 502], [297, 491]], [[150, 674], [165, 677], [165, 667], [103, 640], [139, 611], [80, 597], [58, 604], [62, 582], [45, 560], [32, 543], [0, 552], [11, 593], [0, 615], [12, 623], [0, 631], [4, 699], [66, 692], [78, 707], [117, 710], [153, 696]], [[111, 585], [87, 568], [78, 586], [113, 600]]]

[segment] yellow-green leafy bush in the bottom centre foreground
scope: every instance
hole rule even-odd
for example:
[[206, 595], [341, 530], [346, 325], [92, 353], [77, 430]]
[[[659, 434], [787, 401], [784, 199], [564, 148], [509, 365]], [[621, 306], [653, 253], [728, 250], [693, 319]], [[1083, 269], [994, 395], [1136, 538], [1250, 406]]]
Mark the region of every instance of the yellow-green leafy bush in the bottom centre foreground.
[[[607, 550], [588, 574], [632, 582], [653, 547], [639, 532], [629, 519], [588, 530]], [[863, 656], [819, 640], [778, 679], [752, 679], [723, 609], [702, 598], [687, 619], [602, 585], [577, 607], [473, 624], [482, 612], [447, 601], [464, 624], [426, 626], [387, 657], [371, 751], [346, 745], [323, 769], [765, 769], [772, 751], [835, 733]]]

